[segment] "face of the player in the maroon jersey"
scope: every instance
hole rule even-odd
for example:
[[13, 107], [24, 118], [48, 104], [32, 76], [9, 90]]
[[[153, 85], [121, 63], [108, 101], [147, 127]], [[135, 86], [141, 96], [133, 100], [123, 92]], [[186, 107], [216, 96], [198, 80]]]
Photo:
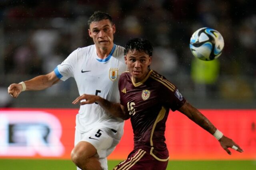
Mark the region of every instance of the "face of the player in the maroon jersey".
[[151, 64], [151, 56], [140, 51], [129, 51], [124, 56], [134, 83], [142, 81], [148, 75], [148, 66]]

